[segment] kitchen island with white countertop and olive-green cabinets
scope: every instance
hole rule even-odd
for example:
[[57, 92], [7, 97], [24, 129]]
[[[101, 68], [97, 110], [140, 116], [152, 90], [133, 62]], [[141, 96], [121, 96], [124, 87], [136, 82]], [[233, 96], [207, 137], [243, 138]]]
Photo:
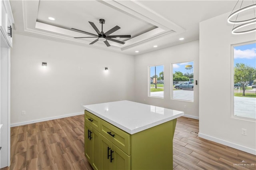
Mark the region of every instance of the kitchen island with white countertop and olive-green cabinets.
[[116, 101], [85, 105], [85, 156], [94, 170], [170, 170], [182, 111]]

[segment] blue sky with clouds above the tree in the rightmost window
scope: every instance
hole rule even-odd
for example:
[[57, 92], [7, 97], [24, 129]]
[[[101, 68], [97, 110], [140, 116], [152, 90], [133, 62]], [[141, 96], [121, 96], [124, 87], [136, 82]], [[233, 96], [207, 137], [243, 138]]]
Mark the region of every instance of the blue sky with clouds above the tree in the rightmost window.
[[245, 63], [256, 68], [256, 43], [234, 47], [234, 66], [236, 63]]

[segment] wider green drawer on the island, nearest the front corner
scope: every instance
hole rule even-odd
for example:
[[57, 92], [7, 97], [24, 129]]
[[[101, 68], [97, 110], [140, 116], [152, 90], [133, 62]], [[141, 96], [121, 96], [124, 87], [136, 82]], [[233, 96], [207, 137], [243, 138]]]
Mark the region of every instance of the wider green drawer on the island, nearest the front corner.
[[103, 120], [100, 122], [100, 133], [130, 155], [130, 134]]

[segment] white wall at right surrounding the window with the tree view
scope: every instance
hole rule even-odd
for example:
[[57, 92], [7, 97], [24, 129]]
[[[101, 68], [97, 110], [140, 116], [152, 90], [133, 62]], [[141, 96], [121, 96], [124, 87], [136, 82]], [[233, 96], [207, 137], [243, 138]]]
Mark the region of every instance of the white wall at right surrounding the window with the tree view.
[[[256, 154], [256, 123], [231, 118], [231, 44], [249, 42], [256, 34], [232, 35], [223, 14], [200, 23], [199, 136]], [[241, 129], [247, 129], [247, 136]]]

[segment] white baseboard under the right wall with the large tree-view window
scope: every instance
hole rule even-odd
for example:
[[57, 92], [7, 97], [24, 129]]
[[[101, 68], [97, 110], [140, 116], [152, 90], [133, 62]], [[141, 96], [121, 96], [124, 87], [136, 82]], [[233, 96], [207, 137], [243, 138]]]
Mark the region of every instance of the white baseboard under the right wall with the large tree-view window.
[[242, 146], [240, 144], [235, 144], [233, 142], [228, 142], [226, 140], [222, 140], [222, 139], [219, 139], [219, 138], [215, 138], [215, 137], [212, 137], [212, 136], [209, 136], [207, 134], [202, 134], [202, 133], [198, 133], [198, 136], [200, 138], [204, 138], [204, 139], [207, 139], [207, 140], [211, 140], [213, 142], [217, 142], [217, 143], [220, 143], [220, 144], [224, 144], [226, 146], [229, 146], [231, 148], [235, 148], [235, 149], [238, 149], [238, 150], [242, 150], [244, 152], [247, 152], [247, 153], [250, 153], [250, 154], [254, 154], [256, 155], [256, 150], [255, 149], [252, 149], [252, 148], [248, 148], [246, 146]]

